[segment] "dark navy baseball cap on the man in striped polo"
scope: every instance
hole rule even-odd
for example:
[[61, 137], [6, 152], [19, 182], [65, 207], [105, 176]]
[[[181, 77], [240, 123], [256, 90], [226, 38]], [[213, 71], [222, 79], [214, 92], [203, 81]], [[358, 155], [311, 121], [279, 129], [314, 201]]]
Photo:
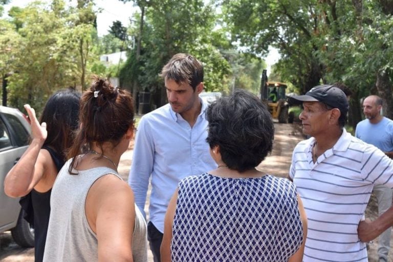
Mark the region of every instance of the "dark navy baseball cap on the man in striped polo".
[[341, 114], [346, 114], [349, 109], [345, 93], [332, 85], [320, 85], [313, 87], [305, 95], [294, 95], [289, 98], [291, 104], [302, 102], [322, 102], [330, 107], [338, 108]]

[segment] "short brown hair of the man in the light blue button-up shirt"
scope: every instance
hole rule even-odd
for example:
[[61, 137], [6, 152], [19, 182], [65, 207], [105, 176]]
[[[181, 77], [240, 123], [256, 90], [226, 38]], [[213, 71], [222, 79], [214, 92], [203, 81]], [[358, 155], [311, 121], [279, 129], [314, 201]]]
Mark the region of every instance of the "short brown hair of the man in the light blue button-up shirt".
[[203, 82], [203, 74], [203, 65], [197, 58], [179, 53], [170, 58], [162, 68], [160, 76], [165, 80], [174, 80], [179, 85], [187, 82], [195, 91], [195, 88]]

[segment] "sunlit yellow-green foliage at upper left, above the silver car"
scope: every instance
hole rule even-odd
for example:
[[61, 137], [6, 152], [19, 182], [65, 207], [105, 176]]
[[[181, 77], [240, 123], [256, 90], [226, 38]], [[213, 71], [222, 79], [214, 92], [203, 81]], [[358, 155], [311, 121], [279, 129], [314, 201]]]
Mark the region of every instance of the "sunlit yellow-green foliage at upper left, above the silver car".
[[55, 90], [85, 88], [91, 63], [98, 59], [93, 53], [92, 13], [91, 4], [66, 8], [57, 0], [51, 8], [39, 2], [13, 7], [10, 22], [0, 19], [7, 25], [0, 35], [0, 69], [2, 75], [12, 72], [7, 87], [10, 106], [29, 103], [39, 111]]

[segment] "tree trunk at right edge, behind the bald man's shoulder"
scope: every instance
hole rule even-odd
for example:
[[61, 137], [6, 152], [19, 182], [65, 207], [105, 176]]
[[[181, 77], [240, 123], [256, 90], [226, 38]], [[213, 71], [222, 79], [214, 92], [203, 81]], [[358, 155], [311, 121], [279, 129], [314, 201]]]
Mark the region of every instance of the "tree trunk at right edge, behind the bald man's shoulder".
[[383, 100], [383, 114], [384, 116], [393, 119], [393, 101], [391, 92], [391, 83], [389, 75], [386, 70], [380, 70], [377, 73], [377, 83], [376, 87], [378, 90], [378, 95]]

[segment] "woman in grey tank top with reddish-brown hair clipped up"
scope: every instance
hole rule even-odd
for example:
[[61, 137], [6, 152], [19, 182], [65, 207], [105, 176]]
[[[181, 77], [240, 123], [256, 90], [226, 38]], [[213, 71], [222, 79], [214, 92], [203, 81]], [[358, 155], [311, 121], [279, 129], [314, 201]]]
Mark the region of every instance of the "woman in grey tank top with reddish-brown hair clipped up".
[[133, 99], [95, 77], [79, 123], [53, 186], [44, 261], [147, 261], [145, 220], [117, 172], [134, 135]]

